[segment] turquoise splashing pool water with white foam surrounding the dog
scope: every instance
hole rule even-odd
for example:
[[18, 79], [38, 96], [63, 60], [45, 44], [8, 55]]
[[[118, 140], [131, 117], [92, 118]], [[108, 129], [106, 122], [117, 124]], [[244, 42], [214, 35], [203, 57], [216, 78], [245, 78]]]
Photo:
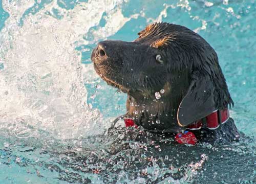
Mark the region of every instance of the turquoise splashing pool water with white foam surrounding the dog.
[[[256, 183], [256, 2], [0, 0], [0, 183]], [[125, 95], [94, 72], [98, 41], [132, 41], [154, 21], [216, 50], [250, 138], [173, 145], [139, 130], [106, 135]]]

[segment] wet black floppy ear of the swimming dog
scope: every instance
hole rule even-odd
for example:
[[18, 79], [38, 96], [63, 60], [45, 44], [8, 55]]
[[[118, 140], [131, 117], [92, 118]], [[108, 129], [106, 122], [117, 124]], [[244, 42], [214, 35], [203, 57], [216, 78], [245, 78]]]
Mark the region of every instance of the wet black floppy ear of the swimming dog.
[[179, 126], [187, 126], [216, 110], [214, 84], [209, 75], [194, 73], [177, 113]]

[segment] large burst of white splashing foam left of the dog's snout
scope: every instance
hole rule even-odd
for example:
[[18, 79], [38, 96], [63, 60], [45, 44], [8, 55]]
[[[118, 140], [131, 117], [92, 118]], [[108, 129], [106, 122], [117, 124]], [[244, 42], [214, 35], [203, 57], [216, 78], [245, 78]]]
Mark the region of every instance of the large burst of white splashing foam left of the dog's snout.
[[[136, 15], [122, 15], [123, 1], [88, 1], [72, 10], [61, 9], [54, 1], [24, 18], [24, 26], [19, 27], [19, 19], [33, 3], [3, 1], [10, 17], [0, 33], [0, 58], [4, 62], [0, 71], [0, 128], [18, 132], [20, 127], [22, 132], [23, 124], [32, 125], [62, 139], [101, 133], [108, 125], [97, 109], [87, 105], [81, 54], [74, 42], [86, 43], [83, 35], [99, 24], [103, 12], [106, 32], [95, 33], [94, 42], [116, 33]], [[47, 15], [52, 8], [58, 9], [63, 18]], [[32, 131], [30, 135], [34, 136]]]

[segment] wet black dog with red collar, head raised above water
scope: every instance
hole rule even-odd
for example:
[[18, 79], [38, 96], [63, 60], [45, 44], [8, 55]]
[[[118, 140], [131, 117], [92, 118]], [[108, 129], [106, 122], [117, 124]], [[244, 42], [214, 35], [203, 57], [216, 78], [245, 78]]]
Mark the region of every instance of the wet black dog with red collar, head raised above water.
[[151, 132], [187, 129], [206, 141], [238, 140], [214, 49], [179, 25], [156, 23], [138, 35], [133, 42], [99, 42], [91, 56], [97, 74], [127, 93], [123, 118]]

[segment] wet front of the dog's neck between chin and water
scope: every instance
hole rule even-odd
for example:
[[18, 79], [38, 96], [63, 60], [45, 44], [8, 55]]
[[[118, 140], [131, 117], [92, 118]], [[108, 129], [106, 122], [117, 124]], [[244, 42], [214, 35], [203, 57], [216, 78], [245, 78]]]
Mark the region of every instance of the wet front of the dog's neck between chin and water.
[[126, 116], [148, 130], [180, 131], [181, 128], [177, 123], [177, 109], [180, 101], [181, 97], [156, 99], [131, 94], [126, 101]]

